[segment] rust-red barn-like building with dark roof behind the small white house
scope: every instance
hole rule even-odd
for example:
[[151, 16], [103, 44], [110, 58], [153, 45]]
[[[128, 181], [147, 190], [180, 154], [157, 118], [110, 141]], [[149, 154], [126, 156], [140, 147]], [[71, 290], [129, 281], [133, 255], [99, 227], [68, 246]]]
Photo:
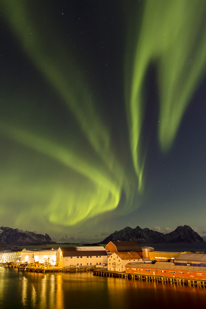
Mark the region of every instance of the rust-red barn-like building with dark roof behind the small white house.
[[143, 257], [142, 248], [136, 241], [110, 241], [105, 249], [108, 255], [114, 252], [137, 252]]

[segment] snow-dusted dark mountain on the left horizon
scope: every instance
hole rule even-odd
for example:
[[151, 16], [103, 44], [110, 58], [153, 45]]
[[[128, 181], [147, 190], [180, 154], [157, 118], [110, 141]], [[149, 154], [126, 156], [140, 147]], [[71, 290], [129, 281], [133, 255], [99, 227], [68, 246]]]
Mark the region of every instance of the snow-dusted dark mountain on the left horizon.
[[48, 234], [36, 234], [29, 231], [12, 229], [11, 227], [0, 227], [0, 243], [7, 245], [30, 245], [30, 244], [54, 244]]

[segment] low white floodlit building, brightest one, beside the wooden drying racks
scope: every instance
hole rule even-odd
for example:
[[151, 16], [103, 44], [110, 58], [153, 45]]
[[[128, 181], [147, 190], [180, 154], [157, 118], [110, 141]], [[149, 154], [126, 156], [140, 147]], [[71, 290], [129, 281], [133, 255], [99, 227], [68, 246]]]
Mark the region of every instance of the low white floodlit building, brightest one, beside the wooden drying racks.
[[50, 263], [56, 262], [57, 250], [23, 250], [21, 252], [21, 261], [27, 263], [44, 263], [48, 258]]

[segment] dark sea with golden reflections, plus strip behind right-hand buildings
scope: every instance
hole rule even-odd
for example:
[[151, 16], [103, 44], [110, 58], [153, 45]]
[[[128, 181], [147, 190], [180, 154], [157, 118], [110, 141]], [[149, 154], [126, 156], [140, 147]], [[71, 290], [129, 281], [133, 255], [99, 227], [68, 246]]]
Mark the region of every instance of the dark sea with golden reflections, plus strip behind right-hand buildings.
[[[206, 243], [147, 245], [162, 251], [206, 252]], [[0, 267], [0, 309], [195, 308], [204, 307], [205, 299], [206, 288], [198, 285]]]

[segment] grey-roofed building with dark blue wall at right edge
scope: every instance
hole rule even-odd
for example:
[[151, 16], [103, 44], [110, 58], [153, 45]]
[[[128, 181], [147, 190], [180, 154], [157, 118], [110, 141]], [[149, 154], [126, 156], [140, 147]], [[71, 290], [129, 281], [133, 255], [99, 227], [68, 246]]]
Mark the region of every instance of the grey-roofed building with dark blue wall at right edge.
[[206, 254], [182, 253], [174, 259], [175, 265], [206, 267]]

